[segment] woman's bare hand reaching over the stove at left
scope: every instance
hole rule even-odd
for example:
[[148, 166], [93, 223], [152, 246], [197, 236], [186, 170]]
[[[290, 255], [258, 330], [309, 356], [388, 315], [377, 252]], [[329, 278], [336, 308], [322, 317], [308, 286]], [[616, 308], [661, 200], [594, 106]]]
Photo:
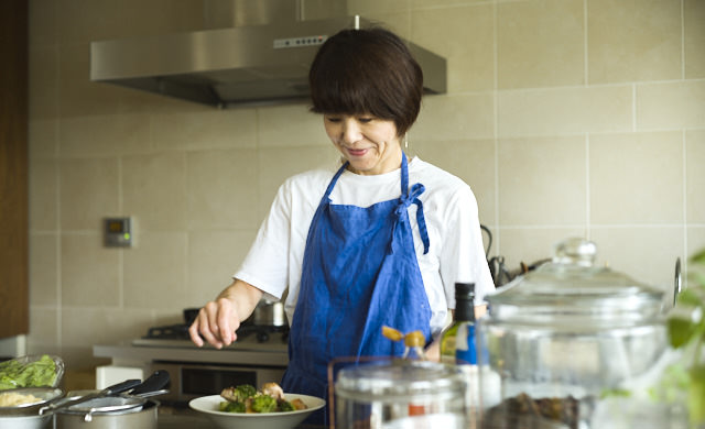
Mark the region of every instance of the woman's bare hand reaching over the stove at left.
[[198, 346], [204, 345], [204, 340], [216, 349], [230, 345], [237, 339], [235, 332], [240, 322], [252, 314], [261, 297], [260, 289], [236, 279], [198, 311], [188, 327], [191, 340]]

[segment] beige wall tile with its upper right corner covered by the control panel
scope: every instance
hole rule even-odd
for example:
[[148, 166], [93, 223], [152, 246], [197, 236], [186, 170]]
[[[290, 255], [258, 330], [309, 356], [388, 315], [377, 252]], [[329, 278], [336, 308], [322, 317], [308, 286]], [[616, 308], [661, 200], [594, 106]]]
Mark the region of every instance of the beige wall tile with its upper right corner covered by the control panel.
[[119, 249], [102, 246], [102, 235], [61, 235], [63, 306], [120, 305]]

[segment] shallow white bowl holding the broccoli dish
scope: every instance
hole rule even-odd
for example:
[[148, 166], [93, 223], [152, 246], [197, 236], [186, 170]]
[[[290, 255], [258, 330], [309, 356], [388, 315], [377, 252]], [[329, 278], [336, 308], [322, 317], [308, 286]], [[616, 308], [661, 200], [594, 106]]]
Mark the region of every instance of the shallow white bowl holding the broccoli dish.
[[192, 399], [188, 406], [203, 413], [221, 429], [293, 429], [313, 411], [323, 408], [326, 402], [315, 396], [284, 394], [286, 400], [301, 399], [308, 408], [285, 413], [223, 413], [218, 410], [225, 399], [220, 395]]

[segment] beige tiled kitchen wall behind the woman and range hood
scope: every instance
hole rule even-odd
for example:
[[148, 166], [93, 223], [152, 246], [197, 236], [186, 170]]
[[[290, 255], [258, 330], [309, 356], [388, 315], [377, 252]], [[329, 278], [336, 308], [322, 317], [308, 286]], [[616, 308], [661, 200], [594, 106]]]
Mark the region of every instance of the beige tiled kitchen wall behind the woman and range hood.
[[[89, 42], [202, 28], [203, 0], [31, 0], [31, 352], [181, 320], [230, 280], [279, 184], [336, 156], [306, 106], [218, 111], [88, 81]], [[349, 0], [448, 59], [410, 150], [474, 188], [510, 267], [593, 239], [664, 288], [705, 248], [705, 2]], [[105, 249], [131, 215], [138, 245]]]

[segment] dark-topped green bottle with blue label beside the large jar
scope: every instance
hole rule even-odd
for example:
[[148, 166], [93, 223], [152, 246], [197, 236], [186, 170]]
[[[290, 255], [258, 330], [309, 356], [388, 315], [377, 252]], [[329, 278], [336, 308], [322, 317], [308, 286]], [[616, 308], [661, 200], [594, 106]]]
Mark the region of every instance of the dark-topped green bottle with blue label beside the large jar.
[[475, 346], [475, 284], [455, 284], [453, 323], [441, 337], [441, 362], [477, 365]]

